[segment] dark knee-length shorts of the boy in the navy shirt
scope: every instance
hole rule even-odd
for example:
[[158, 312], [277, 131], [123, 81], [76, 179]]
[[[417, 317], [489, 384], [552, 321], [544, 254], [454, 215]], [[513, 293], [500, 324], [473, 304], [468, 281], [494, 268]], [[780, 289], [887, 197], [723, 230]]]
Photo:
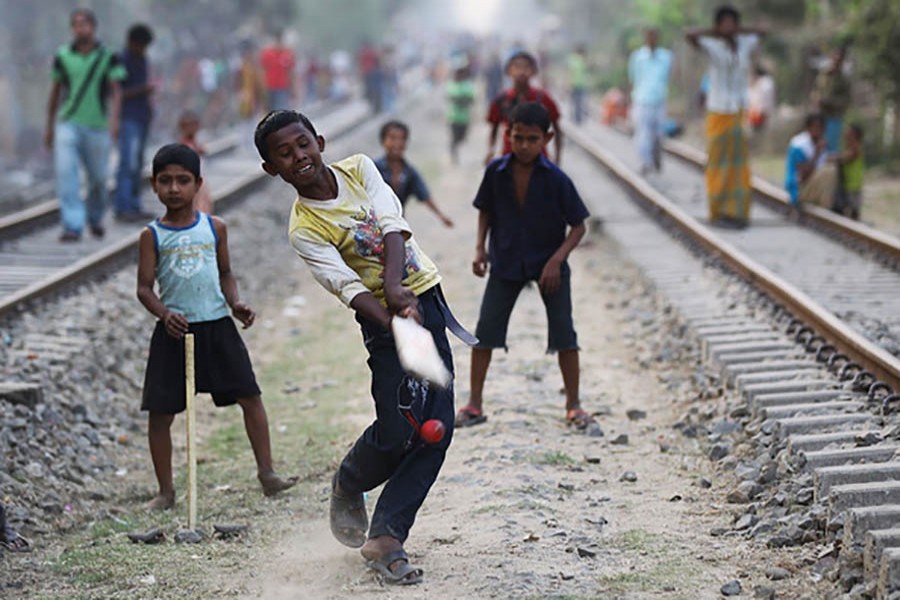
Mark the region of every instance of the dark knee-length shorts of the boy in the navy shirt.
[[[516, 305], [519, 293], [528, 281], [511, 281], [493, 275], [488, 277], [481, 312], [478, 315], [476, 348], [506, 348], [506, 330], [509, 317]], [[559, 290], [553, 294], [541, 293], [547, 311], [547, 352], [577, 350], [578, 335], [572, 323], [571, 271], [563, 268]]]

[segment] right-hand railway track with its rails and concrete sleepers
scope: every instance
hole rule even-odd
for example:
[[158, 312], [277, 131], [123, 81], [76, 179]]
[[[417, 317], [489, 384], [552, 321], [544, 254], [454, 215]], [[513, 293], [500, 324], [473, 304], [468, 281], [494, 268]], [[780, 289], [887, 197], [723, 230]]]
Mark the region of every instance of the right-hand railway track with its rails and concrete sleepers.
[[[896, 240], [851, 248], [846, 241], [854, 236], [835, 238], [830, 227], [856, 224], [810, 211], [829, 225], [809, 228], [808, 220], [785, 219], [778, 205], [755, 207], [746, 230], [711, 229], [694, 167], [669, 161], [651, 183], [637, 175], [630, 147], [610, 151], [622, 147], [624, 136], [593, 124], [566, 130], [643, 208], [618, 207], [607, 226], [629, 240], [630, 254], [672, 300], [707, 368], [721, 373], [742, 401], [732, 414], [771, 458], [750, 470], [751, 480], [741, 484], [746, 498], [735, 501], [762, 513], [777, 500], [766, 489], [789, 490], [803, 510], [785, 515], [769, 544], [830, 542], [825, 548], [839, 552], [835, 580], [845, 591], [894, 597], [900, 591], [900, 360], [892, 344], [900, 338], [900, 273], [880, 258], [893, 252]], [[772, 202], [784, 200], [769, 191]], [[656, 225], [648, 225], [647, 212]], [[690, 252], [663, 235], [660, 224]], [[856, 231], [868, 236], [865, 229]], [[757, 308], [706, 289], [708, 267], [690, 260], [691, 252], [752, 288]]]

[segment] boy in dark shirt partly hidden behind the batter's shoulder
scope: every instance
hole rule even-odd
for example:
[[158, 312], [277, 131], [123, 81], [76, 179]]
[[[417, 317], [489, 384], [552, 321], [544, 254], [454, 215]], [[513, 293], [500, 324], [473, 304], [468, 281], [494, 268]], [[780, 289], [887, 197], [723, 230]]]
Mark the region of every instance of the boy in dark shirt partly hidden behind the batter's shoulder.
[[415, 167], [406, 162], [409, 126], [402, 121], [388, 121], [381, 126], [379, 138], [381, 146], [384, 148], [384, 156], [375, 161], [375, 166], [378, 167], [385, 183], [391, 186], [400, 199], [400, 205], [405, 207], [409, 197], [415, 196], [437, 215], [441, 223], [447, 227], [453, 227], [453, 221], [434, 203], [431, 192], [425, 185], [425, 180], [422, 179]]

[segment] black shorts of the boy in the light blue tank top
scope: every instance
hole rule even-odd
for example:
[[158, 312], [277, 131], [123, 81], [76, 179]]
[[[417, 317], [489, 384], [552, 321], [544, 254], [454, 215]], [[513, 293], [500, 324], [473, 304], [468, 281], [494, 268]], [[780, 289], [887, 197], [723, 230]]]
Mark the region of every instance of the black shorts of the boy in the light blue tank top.
[[[259, 395], [244, 340], [231, 317], [191, 323], [197, 393], [212, 394], [216, 406]], [[150, 339], [141, 410], [174, 415], [185, 408], [184, 340], [166, 333], [157, 321]]]

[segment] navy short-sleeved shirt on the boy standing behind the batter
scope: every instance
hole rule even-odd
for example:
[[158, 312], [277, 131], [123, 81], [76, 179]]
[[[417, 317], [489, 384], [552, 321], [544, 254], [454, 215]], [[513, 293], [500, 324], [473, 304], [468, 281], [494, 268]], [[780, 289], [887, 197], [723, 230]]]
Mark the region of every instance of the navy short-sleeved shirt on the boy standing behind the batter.
[[[541, 155], [519, 206], [507, 154], [488, 165], [473, 204], [490, 215], [491, 273], [512, 281], [538, 279], [566, 239], [568, 227], [584, 222], [587, 207], [569, 176]], [[563, 265], [564, 269], [568, 265]]]

